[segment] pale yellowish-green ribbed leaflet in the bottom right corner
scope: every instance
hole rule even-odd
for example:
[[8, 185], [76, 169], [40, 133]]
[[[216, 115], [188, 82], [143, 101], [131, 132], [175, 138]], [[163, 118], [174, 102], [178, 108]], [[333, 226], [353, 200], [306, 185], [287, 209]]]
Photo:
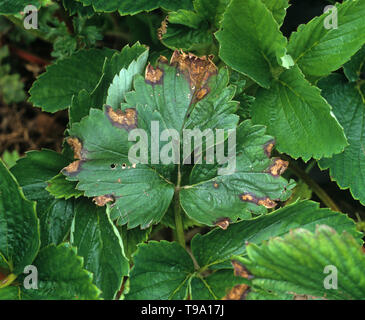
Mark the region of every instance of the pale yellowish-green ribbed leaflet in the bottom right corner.
[[[327, 226], [318, 227], [314, 234], [297, 229], [260, 247], [250, 244], [247, 254], [241, 262], [254, 276], [253, 286], [331, 300], [364, 299], [365, 255], [346, 233], [339, 235]], [[326, 271], [328, 266], [331, 269]], [[334, 284], [328, 277], [336, 276], [335, 272], [337, 289], [326, 289], [326, 283]]]

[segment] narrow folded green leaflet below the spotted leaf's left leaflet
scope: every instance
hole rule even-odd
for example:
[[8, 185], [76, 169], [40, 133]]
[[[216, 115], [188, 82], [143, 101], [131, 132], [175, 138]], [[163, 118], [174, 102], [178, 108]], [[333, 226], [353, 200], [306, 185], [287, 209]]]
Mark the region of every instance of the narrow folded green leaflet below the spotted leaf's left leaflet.
[[91, 202], [78, 201], [73, 245], [84, 258], [84, 268], [94, 274], [94, 283], [101, 289], [101, 297], [114, 299], [129, 272], [122, 239], [111, 222], [105, 208], [97, 208]]

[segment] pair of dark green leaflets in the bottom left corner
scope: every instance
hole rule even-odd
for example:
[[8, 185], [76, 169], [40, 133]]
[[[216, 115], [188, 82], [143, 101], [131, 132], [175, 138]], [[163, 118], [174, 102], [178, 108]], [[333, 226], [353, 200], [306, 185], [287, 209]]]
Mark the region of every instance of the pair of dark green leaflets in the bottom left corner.
[[[64, 243], [39, 250], [42, 237], [36, 203], [24, 197], [2, 161], [0, 178], [0, 267], [6, 275], [0, 285], [1, 299], [98, 298], [99, 289], [92, 284], [92, 274], [83, 269], [82, 259], [76, 256], [74, 248]], [[36, 289], [22, 285], [23, 272], [29, 265], [37, 269]]]

